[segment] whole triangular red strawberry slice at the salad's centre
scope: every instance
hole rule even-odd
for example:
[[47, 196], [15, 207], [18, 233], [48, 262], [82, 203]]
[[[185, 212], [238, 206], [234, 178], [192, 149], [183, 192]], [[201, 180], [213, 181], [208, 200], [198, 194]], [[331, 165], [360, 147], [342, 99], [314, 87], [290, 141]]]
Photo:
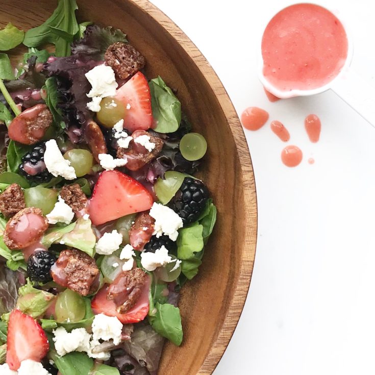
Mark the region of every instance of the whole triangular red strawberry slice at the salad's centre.
[[149, 210], [153, 202], [153, 197], [141, 183], [118, 170], [106, 170], [97, 180], [88, 212], [92, 223], [98, 225]]

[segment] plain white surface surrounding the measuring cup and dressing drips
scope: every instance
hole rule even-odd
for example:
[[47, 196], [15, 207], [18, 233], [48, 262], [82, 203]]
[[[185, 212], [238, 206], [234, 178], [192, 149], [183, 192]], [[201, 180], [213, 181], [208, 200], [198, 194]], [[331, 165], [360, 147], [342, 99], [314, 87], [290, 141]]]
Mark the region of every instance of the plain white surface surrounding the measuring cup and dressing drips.
[[[332, 92], [268, 102], [256, 76], [260, 37], [290, 1], [153, 3], [201, 49], [238, 114], [265, 108], [304, 153], [301, 165], [287, 168], [270, 121], [245, 132], [258, 194], [257, 255], [242, 317], [214, 375], [373, 375], [375, 129]], [[371, 3], [320, 2], [349, 23], [352, 67], [375, 85]], [[304, 129], [310, 113], [321, 118], [317, 144]]]

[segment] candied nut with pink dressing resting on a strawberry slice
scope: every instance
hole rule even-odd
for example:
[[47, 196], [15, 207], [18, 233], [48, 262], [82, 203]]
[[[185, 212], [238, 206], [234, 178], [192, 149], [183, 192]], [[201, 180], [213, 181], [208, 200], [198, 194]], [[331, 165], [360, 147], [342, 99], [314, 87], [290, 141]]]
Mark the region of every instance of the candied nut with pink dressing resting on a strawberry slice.
[[107, 299], [113, 300], [120, 314], [126, 313], [137, 303], [146, 279], [146, 272], [140, 268], [121, 272], [109, 286]]

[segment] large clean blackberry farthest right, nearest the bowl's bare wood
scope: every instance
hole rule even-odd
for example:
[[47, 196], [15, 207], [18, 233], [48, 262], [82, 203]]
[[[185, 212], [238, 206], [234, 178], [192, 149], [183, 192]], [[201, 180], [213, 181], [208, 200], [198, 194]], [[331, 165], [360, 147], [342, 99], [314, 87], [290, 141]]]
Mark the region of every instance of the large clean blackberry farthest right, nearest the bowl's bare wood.
[[208, 199], [206, 185], [191, 177], [185, 177], [180, 189], [171, 201], [171, 208], [179, 214], [184, 225], [190, 224], [201, 215]]

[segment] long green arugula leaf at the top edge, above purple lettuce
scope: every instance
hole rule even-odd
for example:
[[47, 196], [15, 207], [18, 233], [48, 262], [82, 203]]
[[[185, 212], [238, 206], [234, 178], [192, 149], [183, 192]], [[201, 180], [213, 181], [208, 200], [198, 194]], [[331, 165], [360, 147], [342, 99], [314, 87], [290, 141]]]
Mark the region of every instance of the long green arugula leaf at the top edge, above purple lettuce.
[[56, 46], [56, 56], [69, 56], [70, 43], [79, 32], [75, 11], [76, 0], [59, 0], [59, 4], [43, 24], [26, 32], [23, 44], [37, 47], [46, 43]]

